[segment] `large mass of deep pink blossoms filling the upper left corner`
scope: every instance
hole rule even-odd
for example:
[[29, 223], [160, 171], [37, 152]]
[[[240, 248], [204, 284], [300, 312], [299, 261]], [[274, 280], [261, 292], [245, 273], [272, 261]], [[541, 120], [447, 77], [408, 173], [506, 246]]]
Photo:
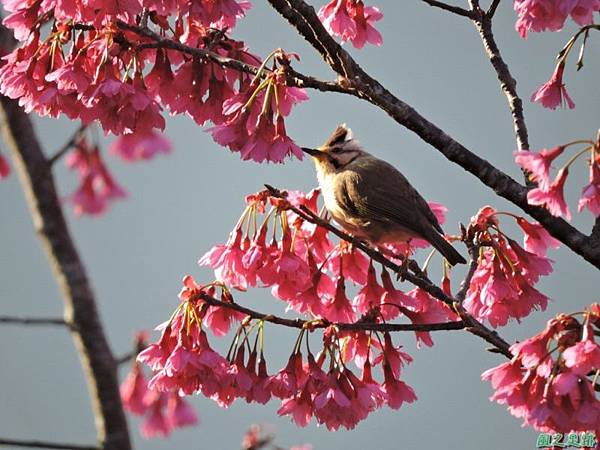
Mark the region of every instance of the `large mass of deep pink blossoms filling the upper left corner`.
[[[306, 99], [303, 90], [287, 84], [288, 55], [274, 52], [267, 69], [270, 58], [261, 64], [227, 34], [248, 2], [4, 6], [11, 13], [4, 23], [22, 43], [4, 58], [0, 92], [19, 99], [25, 111], [98, 122], [117, 136], [137, 134], [123, 138], [117, 150], [128, 160], [146, 159], [138, 144], [164, 129], [165, 109], [200, 125], [211, 122], [217, 142], [244, 159], [301, 156], [284, 125], [292, 105]], [[235, 69], [222, 64], [228, 58]]]

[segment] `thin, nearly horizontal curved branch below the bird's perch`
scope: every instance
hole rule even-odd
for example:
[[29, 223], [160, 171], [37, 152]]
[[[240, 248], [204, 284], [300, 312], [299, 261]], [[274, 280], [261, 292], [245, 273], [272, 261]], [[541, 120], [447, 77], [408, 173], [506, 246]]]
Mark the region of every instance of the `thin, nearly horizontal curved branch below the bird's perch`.
[[[210, 306], [218, 306], [221, 308], [229, 308], [234, 311], [246, 314], [253, 319], [264, 320], [275, 325], [282, 325], [290, 328], [327, 328], [332, 325], [331, 322], [323, 319], [319, 320], [302, 320], [302, 319], [286, 319], [283, 317], [274, 316], [273, 314], [264, 314], [252, 309], [241, 306], [237, 303], [222, 302], [207, 294], [199, 294], [198, 298], [206, 302]], [[462, 330], [465, 324], [462, 320], [454, 322], [442, 323], [374, 323], [374, 322], [356, 322], [356, 323], [335, 323], [335, 326], [342, 331], [441, 331], [441, 330]]]

